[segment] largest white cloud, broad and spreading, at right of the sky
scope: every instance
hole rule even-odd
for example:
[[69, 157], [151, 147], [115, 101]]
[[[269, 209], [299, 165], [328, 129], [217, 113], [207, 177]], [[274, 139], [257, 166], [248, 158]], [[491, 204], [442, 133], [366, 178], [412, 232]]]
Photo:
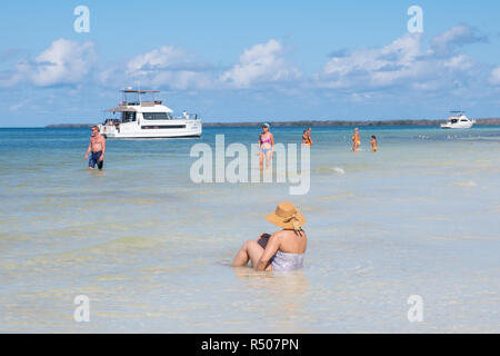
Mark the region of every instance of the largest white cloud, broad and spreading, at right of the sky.
[[423, 50], [421, 34], [407, 33], [381, 48], [333, 57], [316, 76], [316, 85], [351, 91], [457, 88], [478, 80], [479, 71], [478, 63], [457, 48], [482, 40], [473, 29], [458, 26], [434, 37]]

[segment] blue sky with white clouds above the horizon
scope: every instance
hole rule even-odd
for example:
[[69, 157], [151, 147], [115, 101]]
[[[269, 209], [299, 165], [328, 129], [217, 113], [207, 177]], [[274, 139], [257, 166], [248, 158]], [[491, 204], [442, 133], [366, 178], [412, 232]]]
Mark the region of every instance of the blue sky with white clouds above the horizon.
[[126, 87], [204, 121], [500, 117], [499, 13], [490, 0], [10, 1], [0, 127], [100, 122]]

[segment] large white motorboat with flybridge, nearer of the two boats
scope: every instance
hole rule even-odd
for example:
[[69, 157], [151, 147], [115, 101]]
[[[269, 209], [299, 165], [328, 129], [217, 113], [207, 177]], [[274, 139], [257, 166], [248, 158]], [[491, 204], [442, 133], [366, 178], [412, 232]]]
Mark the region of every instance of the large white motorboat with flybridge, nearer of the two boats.
[[[202, 130], [198, 115], [186, 111], [174, 118], [172, 110], [161, 100], [156, 100], [158, 90], [121, 90], [123, 99], [118, 107], [108, 109], [113, 118], [98, 125], [107, 138], [182, 138], [200, 137]], [[118, 116], [118, 117], [117, 117]]]

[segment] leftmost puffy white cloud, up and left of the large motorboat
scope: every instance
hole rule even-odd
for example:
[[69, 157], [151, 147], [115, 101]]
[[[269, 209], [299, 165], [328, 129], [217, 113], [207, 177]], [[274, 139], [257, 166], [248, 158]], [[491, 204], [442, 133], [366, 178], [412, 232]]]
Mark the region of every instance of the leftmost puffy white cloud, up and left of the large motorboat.
[[34, 59], [31, 80], [40, 87], [78, 83], [96, 61], [93, 42], [79, 43], [59, 39]]

